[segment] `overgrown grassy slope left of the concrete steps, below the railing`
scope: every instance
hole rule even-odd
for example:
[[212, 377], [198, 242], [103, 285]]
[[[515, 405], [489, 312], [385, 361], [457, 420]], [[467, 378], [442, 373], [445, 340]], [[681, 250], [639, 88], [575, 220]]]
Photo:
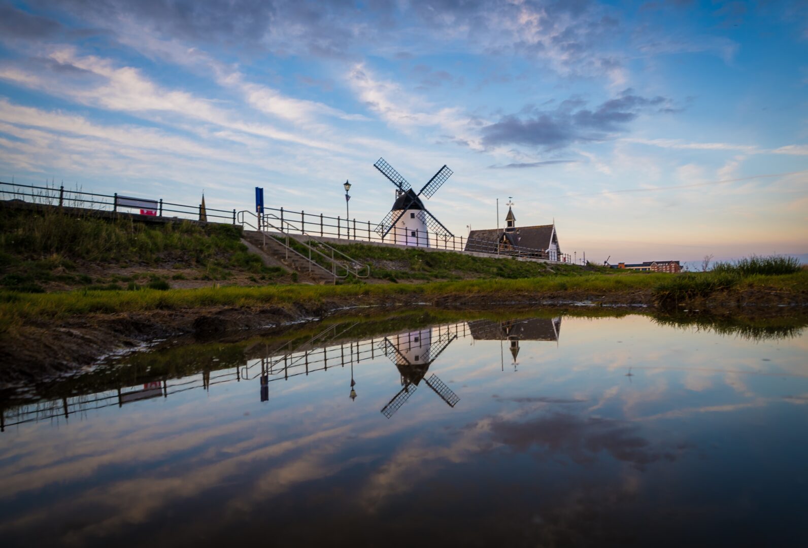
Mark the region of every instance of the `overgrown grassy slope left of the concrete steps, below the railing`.
[[286, 280], [239, 241], [236, 226], [147, 225], [44, 210], [0, 211], [0, 287], [46, 290], [169, 289], [184, 280]]

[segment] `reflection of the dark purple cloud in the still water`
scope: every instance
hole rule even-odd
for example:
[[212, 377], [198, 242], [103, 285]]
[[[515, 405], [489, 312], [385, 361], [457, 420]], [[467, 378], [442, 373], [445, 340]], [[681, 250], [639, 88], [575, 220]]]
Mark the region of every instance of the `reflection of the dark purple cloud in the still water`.
[[[595, 462], [600, 453], [642, 469], [661, 459], [675, 460], [676, 453], [654, 448], [633, 424], [613, 419], [549, 413], [524, 422], [494, 419], [493, 441], [525, 453], [532, 449], [563, 454], [579, 464]], [[537, 455], [540, 456], [540, 455]]]

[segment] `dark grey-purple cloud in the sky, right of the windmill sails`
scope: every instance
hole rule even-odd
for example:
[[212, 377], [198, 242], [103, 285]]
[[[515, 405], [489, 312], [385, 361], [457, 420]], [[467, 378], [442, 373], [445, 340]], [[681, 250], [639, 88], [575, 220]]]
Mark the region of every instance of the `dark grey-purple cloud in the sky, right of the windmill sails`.
[[571, 98], [555, 110], [523, 108], [519, 115], [503, 116], [482, 128], [485, 145], [528, 145], [555, 149], [574, 142], [601, 141], [620, 132], [642, 112], [672, 112], [671, 99], [646, 98], [625, 90], [594, 110], [583, 99]]

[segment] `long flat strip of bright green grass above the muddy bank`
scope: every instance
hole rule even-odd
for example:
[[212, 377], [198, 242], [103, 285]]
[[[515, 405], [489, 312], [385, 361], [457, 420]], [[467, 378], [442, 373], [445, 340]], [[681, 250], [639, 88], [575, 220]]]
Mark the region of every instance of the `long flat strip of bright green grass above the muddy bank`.
[[[594, 300], [610, 294], [671, 292], [671, 280], [680, 276], [649, 274], [643, 276], [545, 276], [524, 280], [461, 280], [430, 284], [376, 285], [273, 285], [263, 287], [224, 286], [203, 289], [170, 289], [159, 291], [77, 290], [61, 293], [16, 293], [0, 291], [0, 331], [32, 318], [65, 317], [80, 314], [111, 314], [144, 310], [182, 310], [208, 306], [309, 306], [322, 305], [326, 300], [348, 300], [357, 304], [374, 298], [385, 301], [431, 301], [440, 298], [462, 305], [466, 299], [490, 297], [492, 301], [562, 296]], [[808, 272], [785, 276], [749, 276], [733, 284], [710, 277], [693, 282], [692, 276], [682, 276], [682, 286], [675, 291], [684, 294], [696, 283], [699, 295], [720, 289], [768, 288], [788, 293], [808, 291]], [[134, 282], [131, 282], [134, 283]], [[676, 283], [676, 282], [675, 282]], [[667, 293], [666, 293], [667, 292]]]

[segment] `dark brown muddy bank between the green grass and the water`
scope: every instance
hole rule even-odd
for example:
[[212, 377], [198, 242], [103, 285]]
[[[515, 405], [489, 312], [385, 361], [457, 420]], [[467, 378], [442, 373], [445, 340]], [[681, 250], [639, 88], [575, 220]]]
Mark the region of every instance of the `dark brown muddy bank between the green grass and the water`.
[[[679, 310], [710, 314], [777, 315], [806, 308], [805, 296], [764, 294], [760, 291], [717, 294], [680, 303]], [[213, 307], [188, 310], [148, 310], [119, 314], [88, 314], [64, 319], [38, 319], [0, 335], [0, 385], [47, 377], [96, 363], [112, 352], [131, 352], [149, 343], [192, 335], [196, 339], [238, 339], [256, 333], [289, 329], [299, 322], [335, 314], [389, 312], [413, 307], [444, 310], [483, 310], [541, 306], [617, 306], [657, 310], [649, 291], [593, 295], [583, 292], [475, 294], [434, 297], [335, 297], [318, 304], [267, 307]], [[361, 314], [365, 314], [362, 311]]]

